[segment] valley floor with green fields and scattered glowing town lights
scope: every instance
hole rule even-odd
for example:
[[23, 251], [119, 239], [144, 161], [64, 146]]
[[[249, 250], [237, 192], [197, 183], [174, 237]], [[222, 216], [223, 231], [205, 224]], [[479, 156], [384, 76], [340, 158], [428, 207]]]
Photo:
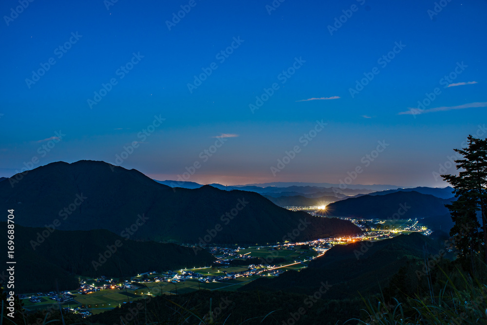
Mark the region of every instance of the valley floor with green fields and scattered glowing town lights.
[[[312, 215], [319, 217], [314, 207], [303, 207]], [[78, 288], [65, 290], [65, 294], [25, 293], [21, 295], [27, 310], [46, 309], [59, 304], [66, 310], [79, 313], [83, 317], [98, 314], [131, 302], [137, 303], [160, 295], [190, 293], [198, 290], [237, 291], [259, 278], [278, 277], [285, 271], [300, 271], [310, 262], [323, 256], [336, 245], [356, 242], [375, 242], [393, 238], [400, 234], [413, 232], [430, 235], [431, 231], [418, 220], [397, 219], [356, 219], [343, 217], [363, 230], [360, 235], [320, 238], [311, 241], [289, 241], [292, 233], [282, 243], [272, 245], [207, 245], [204, 249], [211, 253], [214, 262], [206, 267], [183, 268], [168, 271], [146, 271], [131, 274], [127, 279], [101, 277], [83, 277]], [[203, 248], [187, 245], [193, 251]], [[356, 254], [363, 254], [357, 251]], [[63, 301], [62, 297], [68, 297]], [[35, 299], [35, 300], [33, 300]], [[64, 298], [66, 299], [66, 298]], [[54, 300], [54, 301], [53, 301]]]

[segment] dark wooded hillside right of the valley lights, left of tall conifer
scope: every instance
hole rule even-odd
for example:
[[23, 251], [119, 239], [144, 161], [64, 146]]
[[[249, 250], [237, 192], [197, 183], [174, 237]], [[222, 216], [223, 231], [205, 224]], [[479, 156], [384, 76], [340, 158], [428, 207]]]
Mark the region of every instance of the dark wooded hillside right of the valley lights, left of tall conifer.
[[[437, 254], [439, 244], [424, 235], [412, 233], [378, 242], [337, 245], [302, 271], [287, 271], [272, 279], [257, 279], [242, 290], [285, 290], [313, 294], [328, 283], [328, 299], [344, 299], [379, 292], [402, 267], [421, 270], [424, 256]], [[364, 252], [364, 253], [362, 253]]]

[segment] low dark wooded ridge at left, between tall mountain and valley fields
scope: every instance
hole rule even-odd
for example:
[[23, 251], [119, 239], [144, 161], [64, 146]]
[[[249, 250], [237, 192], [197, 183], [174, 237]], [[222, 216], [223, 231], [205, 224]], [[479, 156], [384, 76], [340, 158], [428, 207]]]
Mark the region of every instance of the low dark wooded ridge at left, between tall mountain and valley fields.
[[[0, 222], [0, 228], [7, 229], [7, 224]], [[48, 233], [45, 228], [16, 226], [14, 242], [18, 293], [50, 291], [56, 289], [56, 281], [59, 289], [75, 289], [79, 275], [127, 278], [147, 271], [207, 266], [214, 261], [204, 250], [196, 254], [192, 248], [176, 244], [137, 242], [107, 230]], [[1, 255], [2, 265], [7, 265], [6, 257], [6, 253]]]

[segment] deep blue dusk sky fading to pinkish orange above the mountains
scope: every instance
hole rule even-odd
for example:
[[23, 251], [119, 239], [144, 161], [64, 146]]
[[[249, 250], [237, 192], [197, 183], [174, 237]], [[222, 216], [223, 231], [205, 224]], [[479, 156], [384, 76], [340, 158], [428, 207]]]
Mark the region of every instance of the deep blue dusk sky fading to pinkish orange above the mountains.
[[354, 183], [443, 186], [452, 149], [487, 136], [485, 1], [277, 3], [3, 1], [0, 176], [89, 159], [159, 180], [199, 162], [188, 181], [338, 183], [361, 167]]

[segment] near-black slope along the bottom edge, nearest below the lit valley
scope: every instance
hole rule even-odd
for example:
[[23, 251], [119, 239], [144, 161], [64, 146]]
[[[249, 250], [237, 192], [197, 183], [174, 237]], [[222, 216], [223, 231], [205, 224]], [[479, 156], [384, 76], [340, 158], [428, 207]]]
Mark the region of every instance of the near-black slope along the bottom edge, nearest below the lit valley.
[[[143, 309], [133, 324], [335, 325], [357, 316], [362, 307], [358, 299], [330, 301], [297, 293], [223, 290], [148, 297], [139, 302]], [[130, 310], [137, 304], [127, 305], [87, 320], [92, 324], [121, 324], [122, 319], [124, 324], [132, 324], [126, 320], [131, 319]], [[213, 321], [209, 319], [210, 310]]]

